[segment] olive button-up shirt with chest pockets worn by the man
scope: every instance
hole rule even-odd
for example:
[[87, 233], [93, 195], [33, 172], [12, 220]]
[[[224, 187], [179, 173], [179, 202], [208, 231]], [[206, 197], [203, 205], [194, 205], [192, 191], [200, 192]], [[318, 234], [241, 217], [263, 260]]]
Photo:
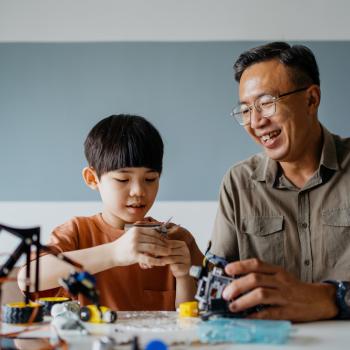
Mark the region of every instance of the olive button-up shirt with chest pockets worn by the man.
[[262, 153], [226, 173], [212, 254], [256, 257], [305, 282], [350, 280], [350, 138], [322, 130], [319, 167], [301, 189]]

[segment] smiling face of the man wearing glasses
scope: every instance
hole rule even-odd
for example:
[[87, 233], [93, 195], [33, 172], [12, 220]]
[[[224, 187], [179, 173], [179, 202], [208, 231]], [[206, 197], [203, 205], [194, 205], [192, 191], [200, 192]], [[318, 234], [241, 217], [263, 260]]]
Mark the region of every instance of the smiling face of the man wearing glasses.
[[[252, 105], [262, 95], [278, 96], [303, 86], [295, 86], [290, 71], [277, 60], [256, 63], [242, 74], [239, 84], [241, 103]], [[251, 123], [245, 126], [250, 136], [260, 144], [268, 157], [276, 161], [298, 161], [315, 125], [310, 116], [307, 91], [276, 101], [276, 112], [264, 118], [255, 108]]]

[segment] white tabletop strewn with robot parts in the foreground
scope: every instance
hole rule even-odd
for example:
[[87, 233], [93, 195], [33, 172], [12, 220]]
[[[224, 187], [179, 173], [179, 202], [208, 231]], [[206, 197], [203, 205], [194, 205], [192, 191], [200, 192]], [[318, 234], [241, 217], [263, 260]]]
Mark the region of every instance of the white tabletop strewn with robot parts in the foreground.
[[[115, 337], [117, 341], [129, 339], [132, 334], [136, 334], [141, 343], [147, 343], [154, 338], [160, 338], [165, 342], [170, 343], [173, 341], [183, 342], [196, 338], [195, 323], [196, 321], [189, 321], [185, 323], [182, 329], [178, 329], [176, 326], [176, 313], [169, 314], [169, 322], [167, 325], [161, 325], [154, 330], [154, 325], [151, 327], [151, 323], [155, 322], [156, 318], [148, 317], [145, 320], [125, 318], [126, 313], [119, 313], [120, 320], [114, 325], [108, 324], [86, 324], [89, 335], [72, 335], [63, 334], [61, 336], [68, 341], [69, 348], [72, 350], [77, 349], [91, 349], [93, 342], [103, 335], [109, 335]], [[135, 327], [132, 325], [134, 322]], [[143, 322], [143, 325], [142, 325]], [[174, 330], [167, 329], [170, 327], [171, 322], [174, 323]], [[188, 322], [188, 321], [185, 321]], [[140, 325], [141, 323], [141, 325]], [[131, 325], [131, 327], [130, 327]], [[19, 329], [19, 326], [3, 325], [2, 332], [13, 331]], [[115, 329], [119, 328], [121, 331], [116, 332]], [[128, 329], [129, 328], [129, 329]], [[162, 329], [163, 328], [163, 329]], [[22, 337], [50, 337], [50, 329], [41, 329], [29, 333], [23, 333]], [[344, 350], [348, 349], [350, 344], [350, 321], [323, 321], [323, 322], [311, 322], [305, 324], [293, 325], [293, 332], [290, 340], [284, 345], [271, 345], [271, 344], [219, 344], [219, 345], [204, 345], [204, 344], [177, 344], [170, 345], [170, 349], [185, 350], [189, 348], [194, 349], [217, 349], [217, 350], [240, 350], [240, 349], [269, 349], [283, 347], [288, 350], [299, 349], [317, 349], [317, 350]], [[33, 345], [34, 346], [34, 345]], [[23, 347], [22, 347], [23, 348]], [[26, 347], [31, 348], [27, 345]], [[34, 347], [32, 347], [34, 349]], [[39, 347], [35, 347], [39, 348]], [[118, 346], [118, 349], [130, 349], [130, 345]]]

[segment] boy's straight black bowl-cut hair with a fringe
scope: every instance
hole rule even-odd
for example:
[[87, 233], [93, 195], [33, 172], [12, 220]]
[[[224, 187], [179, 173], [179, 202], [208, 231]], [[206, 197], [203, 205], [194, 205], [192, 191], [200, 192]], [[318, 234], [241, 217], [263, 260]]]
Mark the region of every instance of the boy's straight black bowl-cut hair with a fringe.
[[89, 132], [85, 157], [100, 178], [126, 167], [145, 167], [162, 172], [164, 145], [158, 130], [138, 115], [111, 115]]

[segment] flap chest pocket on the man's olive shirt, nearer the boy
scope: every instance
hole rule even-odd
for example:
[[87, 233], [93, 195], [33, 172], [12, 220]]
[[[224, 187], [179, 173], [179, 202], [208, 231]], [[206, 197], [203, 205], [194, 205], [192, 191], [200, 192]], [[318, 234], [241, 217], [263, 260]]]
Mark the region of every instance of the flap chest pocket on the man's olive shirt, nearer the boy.
[[240, 258], [258, 258], [284, 267], [283, 216], [243, 218]]

